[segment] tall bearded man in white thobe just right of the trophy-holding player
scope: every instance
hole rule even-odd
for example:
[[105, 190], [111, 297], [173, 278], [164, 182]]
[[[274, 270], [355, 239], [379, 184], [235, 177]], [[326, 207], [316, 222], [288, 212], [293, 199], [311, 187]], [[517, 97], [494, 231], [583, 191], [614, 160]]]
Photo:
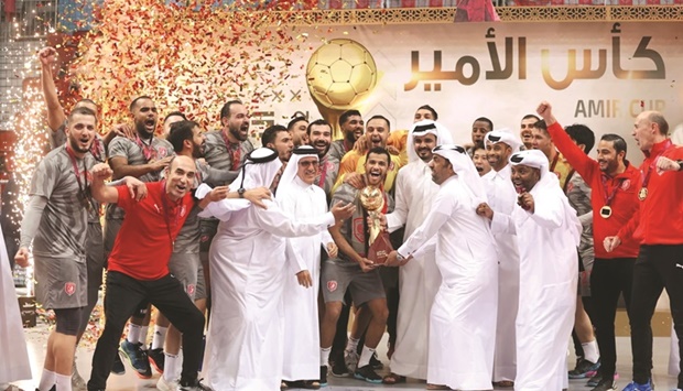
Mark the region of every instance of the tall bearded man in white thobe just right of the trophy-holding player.
[[[410, 130], [409, 163], [399, 171], [395, 208], [387, 215], [390, 232], [405, 226], [403, 240], [408, 240], [424, 221], [438, 192], [429, 166], [432, 150], [437, 144], [451, 142], [448, 130], [432, 120], [415, 122]], [[384, 377], [384, 383], [403, 382], [405, 377], [426, 380], [430, 311], [440, 284], [441, 274], [433, 249], [400, 269], [397, 343], [391, 356], [391, 374]]]

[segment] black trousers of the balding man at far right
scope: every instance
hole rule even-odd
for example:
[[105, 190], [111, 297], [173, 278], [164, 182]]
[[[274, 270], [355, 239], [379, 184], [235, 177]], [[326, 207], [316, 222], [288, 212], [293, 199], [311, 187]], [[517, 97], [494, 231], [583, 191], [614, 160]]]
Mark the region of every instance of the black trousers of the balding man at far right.
[[[633, 265], [630, 324], [633, 381], [638, 383], [652, 377], [650, 322], [663, 289], [669, 294], [673, 328], [683, 351], [683, 245], [643, 245]], [[681, 366], [677, 388], [683, 388], [683, 360]]]

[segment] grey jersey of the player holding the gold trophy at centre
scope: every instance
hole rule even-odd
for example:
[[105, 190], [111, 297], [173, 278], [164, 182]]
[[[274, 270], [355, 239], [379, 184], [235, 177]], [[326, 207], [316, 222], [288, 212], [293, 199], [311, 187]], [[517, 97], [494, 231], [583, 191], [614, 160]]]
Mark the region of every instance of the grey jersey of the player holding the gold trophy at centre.
[[[367, 235], [367, 213], [360, 204], [358, 197], [358, 189], [347, 183], [342, 184], [332, 197], [332, 205], [342, 202], [344, 205], [353, 203], [356, 206], [356, 211], [350, 219], [344, 220], [339, 231], [346, 238], [349, 245], [354, 248], [358, 254], [366, 257], [368, 250], [368, 235]], [[393, 210], [393, 198], [388, 193], [384, 193], [387, 202], [387, 213]], [[346, 257], [342, 251], [338, 252], [337, 258], [330, 258], [330, 262], [344, 267], [357, 267], [358, 263], [353, 259]]]

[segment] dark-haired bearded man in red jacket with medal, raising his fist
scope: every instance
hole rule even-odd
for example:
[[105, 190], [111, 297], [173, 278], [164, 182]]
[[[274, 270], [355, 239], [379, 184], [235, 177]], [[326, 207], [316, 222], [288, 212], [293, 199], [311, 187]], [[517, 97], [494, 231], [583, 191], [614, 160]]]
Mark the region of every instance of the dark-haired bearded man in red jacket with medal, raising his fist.
[[605, 134], [598, 143], [598, 159], [590, 159], [572, 141], [552, 115], [551, 106], [542, 102], [539, 112], [548, 124], [553, 143], [567, 162], [593, 189], [593, 237], [595, 263], [590, 274], [594, 324], [600, 348], [601, 366], [588, 381], [593, 391], [614, 390], [617, 350], [615, 316], [619, 294], [624, 294], [630, 314], [633, 264], [639, 243], [625, 241], [612, 252], [603, 246], [605, 238], [616, 236], [639, 208], [640, 171], [626, 160], [626, 141], [617, 134]]

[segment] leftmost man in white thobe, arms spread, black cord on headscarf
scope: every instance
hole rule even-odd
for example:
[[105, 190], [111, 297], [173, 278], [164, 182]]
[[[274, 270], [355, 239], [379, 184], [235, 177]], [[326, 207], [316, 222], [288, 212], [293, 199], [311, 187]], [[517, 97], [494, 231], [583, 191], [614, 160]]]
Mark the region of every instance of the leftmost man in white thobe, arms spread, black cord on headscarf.
[[[269, 187], [282, 163], [260, 148], [249, 154], [230, 192]], [[197, 197], [206, 194], [199, 186]], [[354, 207], [293, 221], [277, 203], [268, 209], [247, 200], [212, 203], [199, 215], [220, 220], [209, 251], [212, 319], [205, 365], [214, 390], [278, 390], [282, 379], [282, 315], [285, 273], [284, 237], [312, 236], [347, 218]]]

